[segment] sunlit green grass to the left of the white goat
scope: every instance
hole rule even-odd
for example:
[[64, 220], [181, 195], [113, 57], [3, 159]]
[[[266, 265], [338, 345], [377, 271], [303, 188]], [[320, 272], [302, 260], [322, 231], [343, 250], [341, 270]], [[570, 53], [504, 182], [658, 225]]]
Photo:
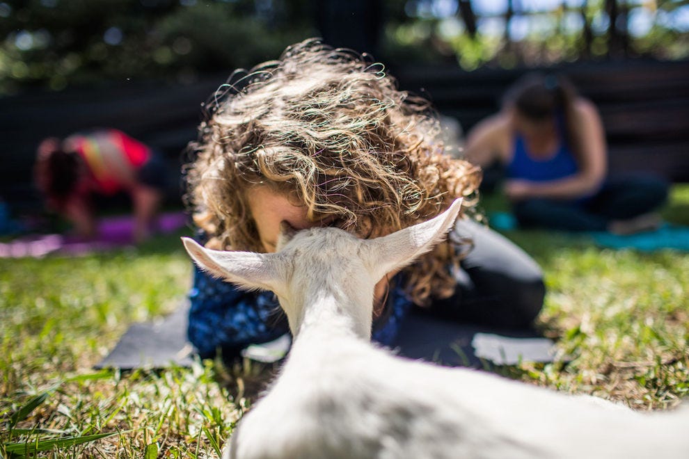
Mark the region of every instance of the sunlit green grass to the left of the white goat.
[[[86, 257], [0, 259], [0, 455], [217, 454], [240, 411], [210, 362], [92, 369], [129, 324], [183, 300], [191, 266], [178, 236]], [[77, 444], [99, 433], [113, 435]]]

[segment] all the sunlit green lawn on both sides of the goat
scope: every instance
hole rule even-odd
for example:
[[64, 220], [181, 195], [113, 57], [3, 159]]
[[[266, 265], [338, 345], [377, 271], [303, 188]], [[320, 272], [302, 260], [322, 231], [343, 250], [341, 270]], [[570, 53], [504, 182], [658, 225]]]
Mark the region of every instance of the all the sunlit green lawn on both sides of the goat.
[[[504, 202], [487, 197], [484, 207]], [[674, 189], [665, 217], [689, 224], [689, 186]], [[218, 454], [264, 381], [263, 367], [92, 369], [128, 325], [184, 299], [191, 265], [179, 235], [86, 257], [0, 259], [0, 456]], [[686, 396], [686, 254], [605, 250], [550, 232], [507, 235], [544, 269], [539, 326], [559, 352], [554, 363], [507, 373], [639, 410], [670, 408]]]

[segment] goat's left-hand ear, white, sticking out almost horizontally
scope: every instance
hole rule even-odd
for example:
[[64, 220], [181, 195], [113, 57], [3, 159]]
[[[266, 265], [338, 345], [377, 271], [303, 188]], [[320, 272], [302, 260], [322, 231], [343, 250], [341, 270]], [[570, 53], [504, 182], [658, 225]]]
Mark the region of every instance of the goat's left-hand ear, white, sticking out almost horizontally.
[[188, 237], [183, 237], [182, 242], [193, 261], [215, 277], [244, 289], [275, 290], [278, 285], [278, 260], [274, 254], [211, 250]]

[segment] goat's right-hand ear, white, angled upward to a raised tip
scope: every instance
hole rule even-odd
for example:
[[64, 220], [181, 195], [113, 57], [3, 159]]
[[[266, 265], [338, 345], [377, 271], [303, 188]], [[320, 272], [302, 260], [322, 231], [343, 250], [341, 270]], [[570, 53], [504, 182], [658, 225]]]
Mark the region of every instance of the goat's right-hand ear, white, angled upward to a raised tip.
[[364, 241], [362, 250], [367, 252], [364, 256], [374, 269], [374, 275], [383, 277], [431, 250], [452, 229], [460, 210], [461, 199], [457, 199], [450, 209], [430, 220], [387, 236]]

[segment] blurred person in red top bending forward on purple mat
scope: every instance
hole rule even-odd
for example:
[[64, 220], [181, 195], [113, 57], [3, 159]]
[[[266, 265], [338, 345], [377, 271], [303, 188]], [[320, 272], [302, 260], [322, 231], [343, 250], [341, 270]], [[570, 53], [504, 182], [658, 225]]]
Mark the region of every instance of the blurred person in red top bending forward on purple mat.
[[68, 218], [85, 239], [96, 236], [94, 195], [129, 194], [137, 242], [150, 235], [169, 177], [150, 147], [117, 129], [42, 140], [34, 173], [49, 209]]

